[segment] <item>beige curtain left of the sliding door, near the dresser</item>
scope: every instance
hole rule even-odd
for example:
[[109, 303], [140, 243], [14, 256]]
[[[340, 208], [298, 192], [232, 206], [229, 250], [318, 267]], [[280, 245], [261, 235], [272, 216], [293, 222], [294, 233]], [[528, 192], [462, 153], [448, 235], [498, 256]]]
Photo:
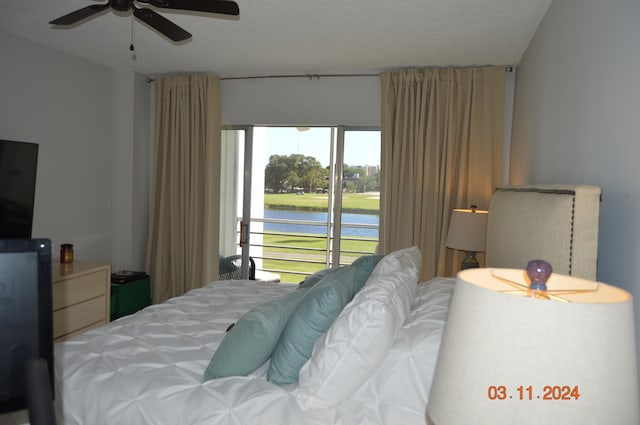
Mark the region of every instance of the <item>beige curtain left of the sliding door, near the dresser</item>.
[[156, 78], [154, 176], [147, 244], [153, 302], [216, 280], [220, 81]]

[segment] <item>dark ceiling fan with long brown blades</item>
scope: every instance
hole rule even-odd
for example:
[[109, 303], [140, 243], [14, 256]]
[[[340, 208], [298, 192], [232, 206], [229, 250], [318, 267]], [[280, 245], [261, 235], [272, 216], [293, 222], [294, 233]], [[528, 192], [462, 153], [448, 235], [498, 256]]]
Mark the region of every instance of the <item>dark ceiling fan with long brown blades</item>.
[[232, 0], [109, 0], [105, 4], [94, 4], [83, 7], [61, 16], [58, 19], [54, 19], [49, 23], [52, 25], [68, 26], [92, 17], [109, 7], [118, 12], [128, 12], [133, 9], [133, 16], [173, 41], [182, 41], [191, 37], [191, 33], [163, 17], [155, 10], [149, 9], [148, 7], [137, 7], [135, 5], [136, 1], [162, 9], [189, 10], [232, 16], [240, 14], [238, 4]]

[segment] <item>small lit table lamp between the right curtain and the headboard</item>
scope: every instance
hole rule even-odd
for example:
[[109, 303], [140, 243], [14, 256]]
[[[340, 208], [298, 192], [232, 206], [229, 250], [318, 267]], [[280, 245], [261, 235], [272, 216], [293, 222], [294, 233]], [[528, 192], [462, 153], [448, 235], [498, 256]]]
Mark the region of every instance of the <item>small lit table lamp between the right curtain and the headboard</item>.
[[480, 267], [476, 252], [485, 250], [487, 216], [488, 211], [479, 210], [475, 205], [470, 209], [456, 208], [451, 213], [447, 246], [466, 251], [460, 265], [462, 270]]

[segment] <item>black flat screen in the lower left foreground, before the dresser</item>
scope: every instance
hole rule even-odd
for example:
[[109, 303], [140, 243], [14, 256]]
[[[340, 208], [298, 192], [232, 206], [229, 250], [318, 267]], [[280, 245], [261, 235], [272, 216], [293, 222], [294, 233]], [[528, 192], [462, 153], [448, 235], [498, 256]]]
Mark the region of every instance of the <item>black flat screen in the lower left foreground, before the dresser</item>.
[[[31, 408], [34, 391], [52, 397], [52, 287], [51, 241], [0, 240], [0, 413]], [[48, 376], [34, 387], [30, 364], [43, 360]]]

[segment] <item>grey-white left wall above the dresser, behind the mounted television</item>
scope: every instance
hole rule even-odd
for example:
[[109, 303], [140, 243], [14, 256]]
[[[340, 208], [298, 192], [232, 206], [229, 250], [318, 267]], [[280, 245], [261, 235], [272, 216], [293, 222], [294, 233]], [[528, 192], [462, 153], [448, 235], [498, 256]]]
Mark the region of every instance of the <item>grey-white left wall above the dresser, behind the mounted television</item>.
[[114, 73], [6, 33], [0, 57], [0, 137], [40, 145], [33, 236], [110, 261]]

